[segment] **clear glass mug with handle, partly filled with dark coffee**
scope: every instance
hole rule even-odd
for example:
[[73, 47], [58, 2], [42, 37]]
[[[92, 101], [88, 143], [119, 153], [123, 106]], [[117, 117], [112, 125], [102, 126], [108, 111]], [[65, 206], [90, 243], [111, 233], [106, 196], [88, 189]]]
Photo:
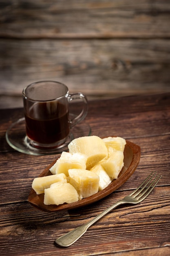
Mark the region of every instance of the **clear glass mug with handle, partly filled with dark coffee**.
[[[69, 93], [63, 83], [39, 81], [26, 86], [22, 92], [26, 137], [35, 148], [57, 148], [64, 144], [70, 129], [82, 121], [88, 111], [87, 99], [81, 92]], [[69, 119], [69, 102], [81, 99], [82, 111]]]

